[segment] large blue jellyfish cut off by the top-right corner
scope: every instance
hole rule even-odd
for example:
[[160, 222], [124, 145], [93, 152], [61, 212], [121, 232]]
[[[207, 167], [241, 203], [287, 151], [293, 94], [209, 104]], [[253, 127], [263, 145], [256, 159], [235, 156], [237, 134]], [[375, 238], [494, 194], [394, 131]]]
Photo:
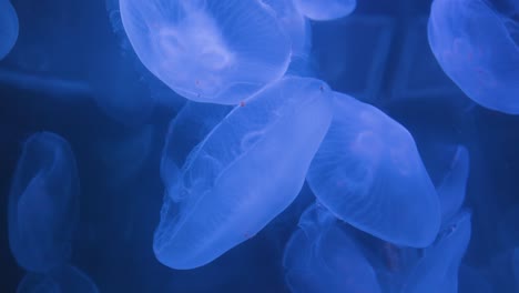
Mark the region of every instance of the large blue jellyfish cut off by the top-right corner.
[[447, 75], [470, 99], [518, 114], [519, 6], [503, 13], [492, 2], [434, 1], [429, 44]]

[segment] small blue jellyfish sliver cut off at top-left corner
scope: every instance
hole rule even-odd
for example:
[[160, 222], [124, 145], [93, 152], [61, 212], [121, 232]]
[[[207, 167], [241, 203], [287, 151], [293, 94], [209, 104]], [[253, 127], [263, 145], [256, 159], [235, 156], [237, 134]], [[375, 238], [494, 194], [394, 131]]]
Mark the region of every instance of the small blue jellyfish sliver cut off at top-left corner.
[[18, 30], [17, 11], [9, 0], [0, 0], [0, 60], [14, 47]]

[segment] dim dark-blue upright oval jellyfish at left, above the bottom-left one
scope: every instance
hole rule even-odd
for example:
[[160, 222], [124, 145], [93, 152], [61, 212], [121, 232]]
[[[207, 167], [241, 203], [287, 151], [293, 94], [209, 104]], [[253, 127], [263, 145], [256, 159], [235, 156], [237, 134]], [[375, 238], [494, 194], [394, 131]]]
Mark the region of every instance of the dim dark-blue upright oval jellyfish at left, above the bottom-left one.
[[18, 264], [47, 272], [70, 259], [79, 180], [69, 143], [40, 132], [23, 144], [9, 198], [9, 243]]

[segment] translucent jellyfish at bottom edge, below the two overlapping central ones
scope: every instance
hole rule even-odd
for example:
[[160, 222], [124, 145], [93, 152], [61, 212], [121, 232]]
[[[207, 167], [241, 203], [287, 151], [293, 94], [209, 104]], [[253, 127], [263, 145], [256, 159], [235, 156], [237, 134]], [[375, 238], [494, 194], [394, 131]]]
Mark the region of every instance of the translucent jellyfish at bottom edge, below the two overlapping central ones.
[[311, 205], [286, 244], [285, 280], [292, 292], [381, 292], [362, 249], [324, 208]]

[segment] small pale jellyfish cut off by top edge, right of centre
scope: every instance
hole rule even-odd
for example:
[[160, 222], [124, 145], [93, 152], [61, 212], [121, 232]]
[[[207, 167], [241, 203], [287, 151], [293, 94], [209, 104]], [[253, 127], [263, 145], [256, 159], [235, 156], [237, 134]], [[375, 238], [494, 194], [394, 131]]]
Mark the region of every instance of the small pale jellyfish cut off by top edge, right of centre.
[[294, 0], [297, 9], [313, 20], [346, 17], [357, 7], [357, 0]]

